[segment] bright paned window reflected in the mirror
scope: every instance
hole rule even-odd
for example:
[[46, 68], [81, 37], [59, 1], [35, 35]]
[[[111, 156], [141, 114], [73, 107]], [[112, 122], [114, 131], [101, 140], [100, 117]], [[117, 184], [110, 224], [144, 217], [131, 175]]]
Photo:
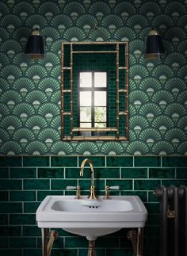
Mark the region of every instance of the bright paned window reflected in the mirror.
[[[80, 72], [79, 124], [81, 128], [107, 127], [107, 74], [106, 72]], [[83, 136], [98, 132], [81, 132]]]

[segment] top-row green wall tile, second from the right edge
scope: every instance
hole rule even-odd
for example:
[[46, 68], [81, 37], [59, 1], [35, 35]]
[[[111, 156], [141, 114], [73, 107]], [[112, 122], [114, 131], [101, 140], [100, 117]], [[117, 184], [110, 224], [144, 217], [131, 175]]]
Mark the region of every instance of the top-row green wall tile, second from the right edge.
[[158, 156], [135, 156], [135, 166], [160, 166], [161, 158]]

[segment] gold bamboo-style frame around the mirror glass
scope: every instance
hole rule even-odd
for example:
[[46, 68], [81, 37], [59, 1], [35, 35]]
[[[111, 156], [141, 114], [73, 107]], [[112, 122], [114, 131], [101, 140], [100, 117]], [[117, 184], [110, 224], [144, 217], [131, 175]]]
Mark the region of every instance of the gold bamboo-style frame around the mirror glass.
[[[104, 45], [111, 45], [115, 46], [115, 50], [112, 51], [105, 51], [102, 50], [102, 46]], [[85, 50], [85, 51], [78, 51], [74, 50], [76, 45], [99, 45], [101, 50]], [[70, 48], [70, 66], [64, 66], [64, 48]], [[120, 66], [120, 48], [124, 47], [124, 66]], [[73, 77], [73, 70], [74, 70], [74, 55], [81, 55], [81, 54], [94, 54], [94, 53], [101, 53], [101, 54], [115, 54], [116, 55], [116, 126], [115, 127], [105, 127], [105, 128], [81, 128], [81, 127], [74, 127], [74, 77]], [[124, 86], [120, 88], [120, 71], [125, 72], [124, 77]], [[70, 72], [70, 87], [67, 89], [64, 86], [64, 72]], [[125, 102], [123, 111], [120, 110], [120, 94], [124, 94]], [[69, 111], [65, 110], [65, 98], [70, 98], [70, 109]], [[121, 135], [119, 130], [119, 120], [120, 117], [124, 116], [125, 124], [124, 124], [124, 134]], [[65, 117], [70, 117], [70, 124], [66, 123]], [[65, 127], [69, 128], [69, 134], [65, 134]], [[78, 132], [114, 132], [114, 135], [105, 135], [105, 136], [77, 136]], [[61, 45], [61, 135], [62, 140], [127, 140], [128, 139], [128, 41], [124, 42], [66, 42], [62, 43]]]

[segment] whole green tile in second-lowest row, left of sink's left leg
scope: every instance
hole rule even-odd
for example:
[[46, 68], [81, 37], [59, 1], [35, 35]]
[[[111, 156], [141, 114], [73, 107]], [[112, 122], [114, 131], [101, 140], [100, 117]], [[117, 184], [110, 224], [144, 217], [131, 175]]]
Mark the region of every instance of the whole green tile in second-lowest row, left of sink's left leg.
[[36, 247], [35, 238], [19, 237], [19, 238], [10, 238], [10, 247], [14, 248], [27, 248], [27, 247]]

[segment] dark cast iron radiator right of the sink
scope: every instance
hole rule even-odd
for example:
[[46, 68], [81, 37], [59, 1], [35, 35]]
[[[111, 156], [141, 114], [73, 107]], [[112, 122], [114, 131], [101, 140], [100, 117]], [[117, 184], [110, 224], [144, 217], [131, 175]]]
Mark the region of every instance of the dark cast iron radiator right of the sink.
[[155, 195], [160, 201], [159, 256], [187, 256], [187, 186], [162, 185]]

